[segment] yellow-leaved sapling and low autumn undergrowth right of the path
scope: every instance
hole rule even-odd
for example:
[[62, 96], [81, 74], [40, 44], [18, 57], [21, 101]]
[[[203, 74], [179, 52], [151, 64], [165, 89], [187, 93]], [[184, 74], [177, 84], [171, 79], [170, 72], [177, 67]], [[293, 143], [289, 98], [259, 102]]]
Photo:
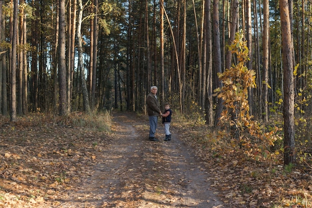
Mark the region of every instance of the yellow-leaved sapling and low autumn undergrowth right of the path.
[[[191, 120], [187, 119], [189, 116], [183, 118], [184, 116], [180, 115], [178, 122], [181, 123], [177, 126], [189, 129], [186, 131], [187, 142], [195, 147], [198, 155], [227, 167], [230, 173], [235, 173], [234, 170], [237, 169], [243, 173], [247, 168], [250, 170], [249, 175], [240, 177], [246, 179], [252, 177], [265, 185], [264, 190], [261, 186], [253, 187], [254, 190], [250, 190], [251, 187], [240, 186], [242, 193], [260, 192], [267, 197], [275, 193], [279, 197], [278, 200], [276, 197], [273, 198], [276, 201], [274, 208], [294, 206], [311, 208], [312, 185], [309, 182], [312, 178], [312, 151], [311, 146], [309, 147], [311, 139], [307, 138], [307, 131], [298, 132], [296, 140], [298, 164], [290, 164], [283, 168], [283, 122], [271, 119], [267, 123], [261, 123], [249, 115], [247, 89], [253, 86], [255, 74], [244, 65], [248, 60], [246, 56], [248, 51], [245, 42], [240, 38], [237, 34], [236, 42], [231, 45], [232, 52], [236, 53], [240, 62], [236, 66], [233, 65], [231, 70], [219, 74], [224, 85], [217, 89], [216, 93], [218, 98], [224, 100], [225, 106], [219, 122], [221, 125], [215, 129], [209, 128], [203, 124], [204, 122], [197, 122], [203, 120], [198, 115], [196, 119]], [[236, 77], [237, 74], [240, 76]], [[297, 119], [295, 124], [307, 127], [307, 121], [303, 117]], [[299, 181], [296, 182], [294, 179]], [[276, 185], [274, 188], [272, 184], [275, 183], [279, 186]], [[280, 184], [301, 187], [289, 189], [288, 186]]]

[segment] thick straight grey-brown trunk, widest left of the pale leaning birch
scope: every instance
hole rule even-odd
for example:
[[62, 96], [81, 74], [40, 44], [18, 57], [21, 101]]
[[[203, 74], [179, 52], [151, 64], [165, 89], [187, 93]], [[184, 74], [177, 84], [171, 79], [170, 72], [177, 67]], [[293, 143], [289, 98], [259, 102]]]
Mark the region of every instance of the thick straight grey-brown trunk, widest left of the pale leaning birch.
[[66, 55], [65, 55], [65, 0], [59, 0], [59, 47], [58, 47], [58, 79], [59, 79], [59, 114], [68, 114], [66, 96]]

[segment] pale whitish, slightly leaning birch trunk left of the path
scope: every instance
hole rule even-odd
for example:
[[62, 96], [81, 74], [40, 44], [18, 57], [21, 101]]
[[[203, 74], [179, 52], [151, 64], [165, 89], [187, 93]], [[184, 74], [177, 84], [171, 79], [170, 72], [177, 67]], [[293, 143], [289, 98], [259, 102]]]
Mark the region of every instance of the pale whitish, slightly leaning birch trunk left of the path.
[[82, 36], [81, 36], [81, 24], [82, 24], [82, 0], [78, 0], [79, 12], [78, 12], [78, 25], [77, 25], [77, 39], [78, 39], [78, 59], [79, 59], [79, 69], [80, 69], [80, 77], [81, 77], [81, 87], [82, 87], [82, 99], [83, 99], [83, 109], [87, 114], [90, 114], [90, 104], [89, 104], [89, 96], [88, 89], [85, 78], [85, 66], [83, 64], [82, 57]]

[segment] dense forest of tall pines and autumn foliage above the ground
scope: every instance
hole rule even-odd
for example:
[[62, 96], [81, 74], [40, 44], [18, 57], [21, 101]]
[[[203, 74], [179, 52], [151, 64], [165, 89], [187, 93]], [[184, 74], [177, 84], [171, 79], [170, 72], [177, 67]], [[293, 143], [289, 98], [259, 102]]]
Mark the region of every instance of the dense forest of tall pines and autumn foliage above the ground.
[[295, 140], [311, 142], [310, 1], [0, 4], [0, 110], [10, 121], [30, 112], [142, 112], [156, 85], [161, 105], [211, 128], [227, 124], [220, 128], [240, 147], [282, 138], [285, 165], [308, 160]]

